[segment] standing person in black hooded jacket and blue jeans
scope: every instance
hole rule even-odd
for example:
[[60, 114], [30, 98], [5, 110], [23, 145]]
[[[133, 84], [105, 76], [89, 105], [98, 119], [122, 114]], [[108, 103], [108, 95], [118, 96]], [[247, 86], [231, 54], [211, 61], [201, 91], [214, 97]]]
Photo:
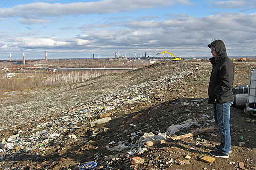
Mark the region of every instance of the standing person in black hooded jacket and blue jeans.
[[215, 157], [229, 158], [231, 152], [229, 120], [230, 107], [234, 101], [232, 93], [234, 64], [227, 56], [222, 40], [215, 40], [208, 44], [208, 47], [213, 55], [209, 59], [213, 68], [208, 88], [208, 103], [213, 104], [214, 120], [221, 135], [220, 145], [215, 146], [217, 151], [211, 151], [210, 154]]

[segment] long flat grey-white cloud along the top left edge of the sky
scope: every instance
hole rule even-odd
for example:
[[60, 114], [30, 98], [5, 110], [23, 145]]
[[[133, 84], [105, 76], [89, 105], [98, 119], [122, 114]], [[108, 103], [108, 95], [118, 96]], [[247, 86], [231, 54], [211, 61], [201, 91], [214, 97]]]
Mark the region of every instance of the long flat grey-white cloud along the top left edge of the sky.
[[176, 3], [192, 5], [189, 0], [100, 0], [97, 2], [78, 2], [67, 4], [39, 2], [17, 5], [11, 8], [0, 8], [0, 18], [37, 18], [39, 16], [61, 16], [71, 14], [104, 14], [136, 9], [165, 7]]

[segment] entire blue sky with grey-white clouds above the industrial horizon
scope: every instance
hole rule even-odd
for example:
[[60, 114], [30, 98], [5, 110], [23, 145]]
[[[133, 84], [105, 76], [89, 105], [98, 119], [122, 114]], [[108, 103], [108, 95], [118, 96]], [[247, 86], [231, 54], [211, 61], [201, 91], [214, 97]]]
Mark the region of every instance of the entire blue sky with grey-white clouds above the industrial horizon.
[[2, 0], [0, 59], [256, 56], [256, 0]]

